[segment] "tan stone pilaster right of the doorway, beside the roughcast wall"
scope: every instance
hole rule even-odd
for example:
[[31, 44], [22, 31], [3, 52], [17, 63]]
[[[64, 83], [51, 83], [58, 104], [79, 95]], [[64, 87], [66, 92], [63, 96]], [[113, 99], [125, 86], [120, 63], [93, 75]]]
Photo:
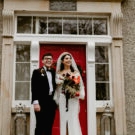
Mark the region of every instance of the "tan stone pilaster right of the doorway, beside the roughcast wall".
[[114, 97], [114, 118], [116, 135], [127, 135], [126, 114], [125, 114], [125, 92], [123, 74], [123, 42], [122, 42], [122, 18], [121, 12], [112, 15], [113, 40], [113, 97]]

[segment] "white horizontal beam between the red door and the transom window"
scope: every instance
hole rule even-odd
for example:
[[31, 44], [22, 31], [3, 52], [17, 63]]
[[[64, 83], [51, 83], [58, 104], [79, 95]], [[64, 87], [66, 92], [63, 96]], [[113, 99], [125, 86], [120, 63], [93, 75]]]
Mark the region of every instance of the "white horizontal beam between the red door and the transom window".
[[95, 43], [112, 43], [111, 36], [86, 36], [86, 35], [39, 35], [39, 34], [17, 34], [14, 41], [37, 41], [44, 43], [76, 43], [82, 44], [87, 42]]

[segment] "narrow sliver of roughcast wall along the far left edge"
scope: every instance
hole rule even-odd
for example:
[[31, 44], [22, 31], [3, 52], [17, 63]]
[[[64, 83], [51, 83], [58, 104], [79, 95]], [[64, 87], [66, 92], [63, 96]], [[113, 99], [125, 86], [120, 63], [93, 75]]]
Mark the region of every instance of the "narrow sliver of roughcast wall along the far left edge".
[[[1, 87], [1, 60], [2, 60], [2, 8], [3, 3], [2, 0], [0, 0], [0, 87]], [[0, 88], [1, 93], [1, 88]]]

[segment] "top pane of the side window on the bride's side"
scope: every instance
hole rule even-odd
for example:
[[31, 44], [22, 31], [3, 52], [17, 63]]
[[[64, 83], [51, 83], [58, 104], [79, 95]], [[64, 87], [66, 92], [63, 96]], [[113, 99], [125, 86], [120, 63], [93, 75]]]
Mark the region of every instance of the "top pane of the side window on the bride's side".
[[108, 47], [107, 46], [96, 46], [95, 48], [95, 61], [104, 63], [108, 62]]

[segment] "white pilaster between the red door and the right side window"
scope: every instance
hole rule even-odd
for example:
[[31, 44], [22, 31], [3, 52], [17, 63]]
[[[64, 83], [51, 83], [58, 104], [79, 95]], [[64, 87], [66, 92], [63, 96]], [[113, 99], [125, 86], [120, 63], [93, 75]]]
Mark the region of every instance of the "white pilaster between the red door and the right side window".
[[95, 42], [87, 43], [87, 80], [88, 135], [97, 135], [95, 101]]

